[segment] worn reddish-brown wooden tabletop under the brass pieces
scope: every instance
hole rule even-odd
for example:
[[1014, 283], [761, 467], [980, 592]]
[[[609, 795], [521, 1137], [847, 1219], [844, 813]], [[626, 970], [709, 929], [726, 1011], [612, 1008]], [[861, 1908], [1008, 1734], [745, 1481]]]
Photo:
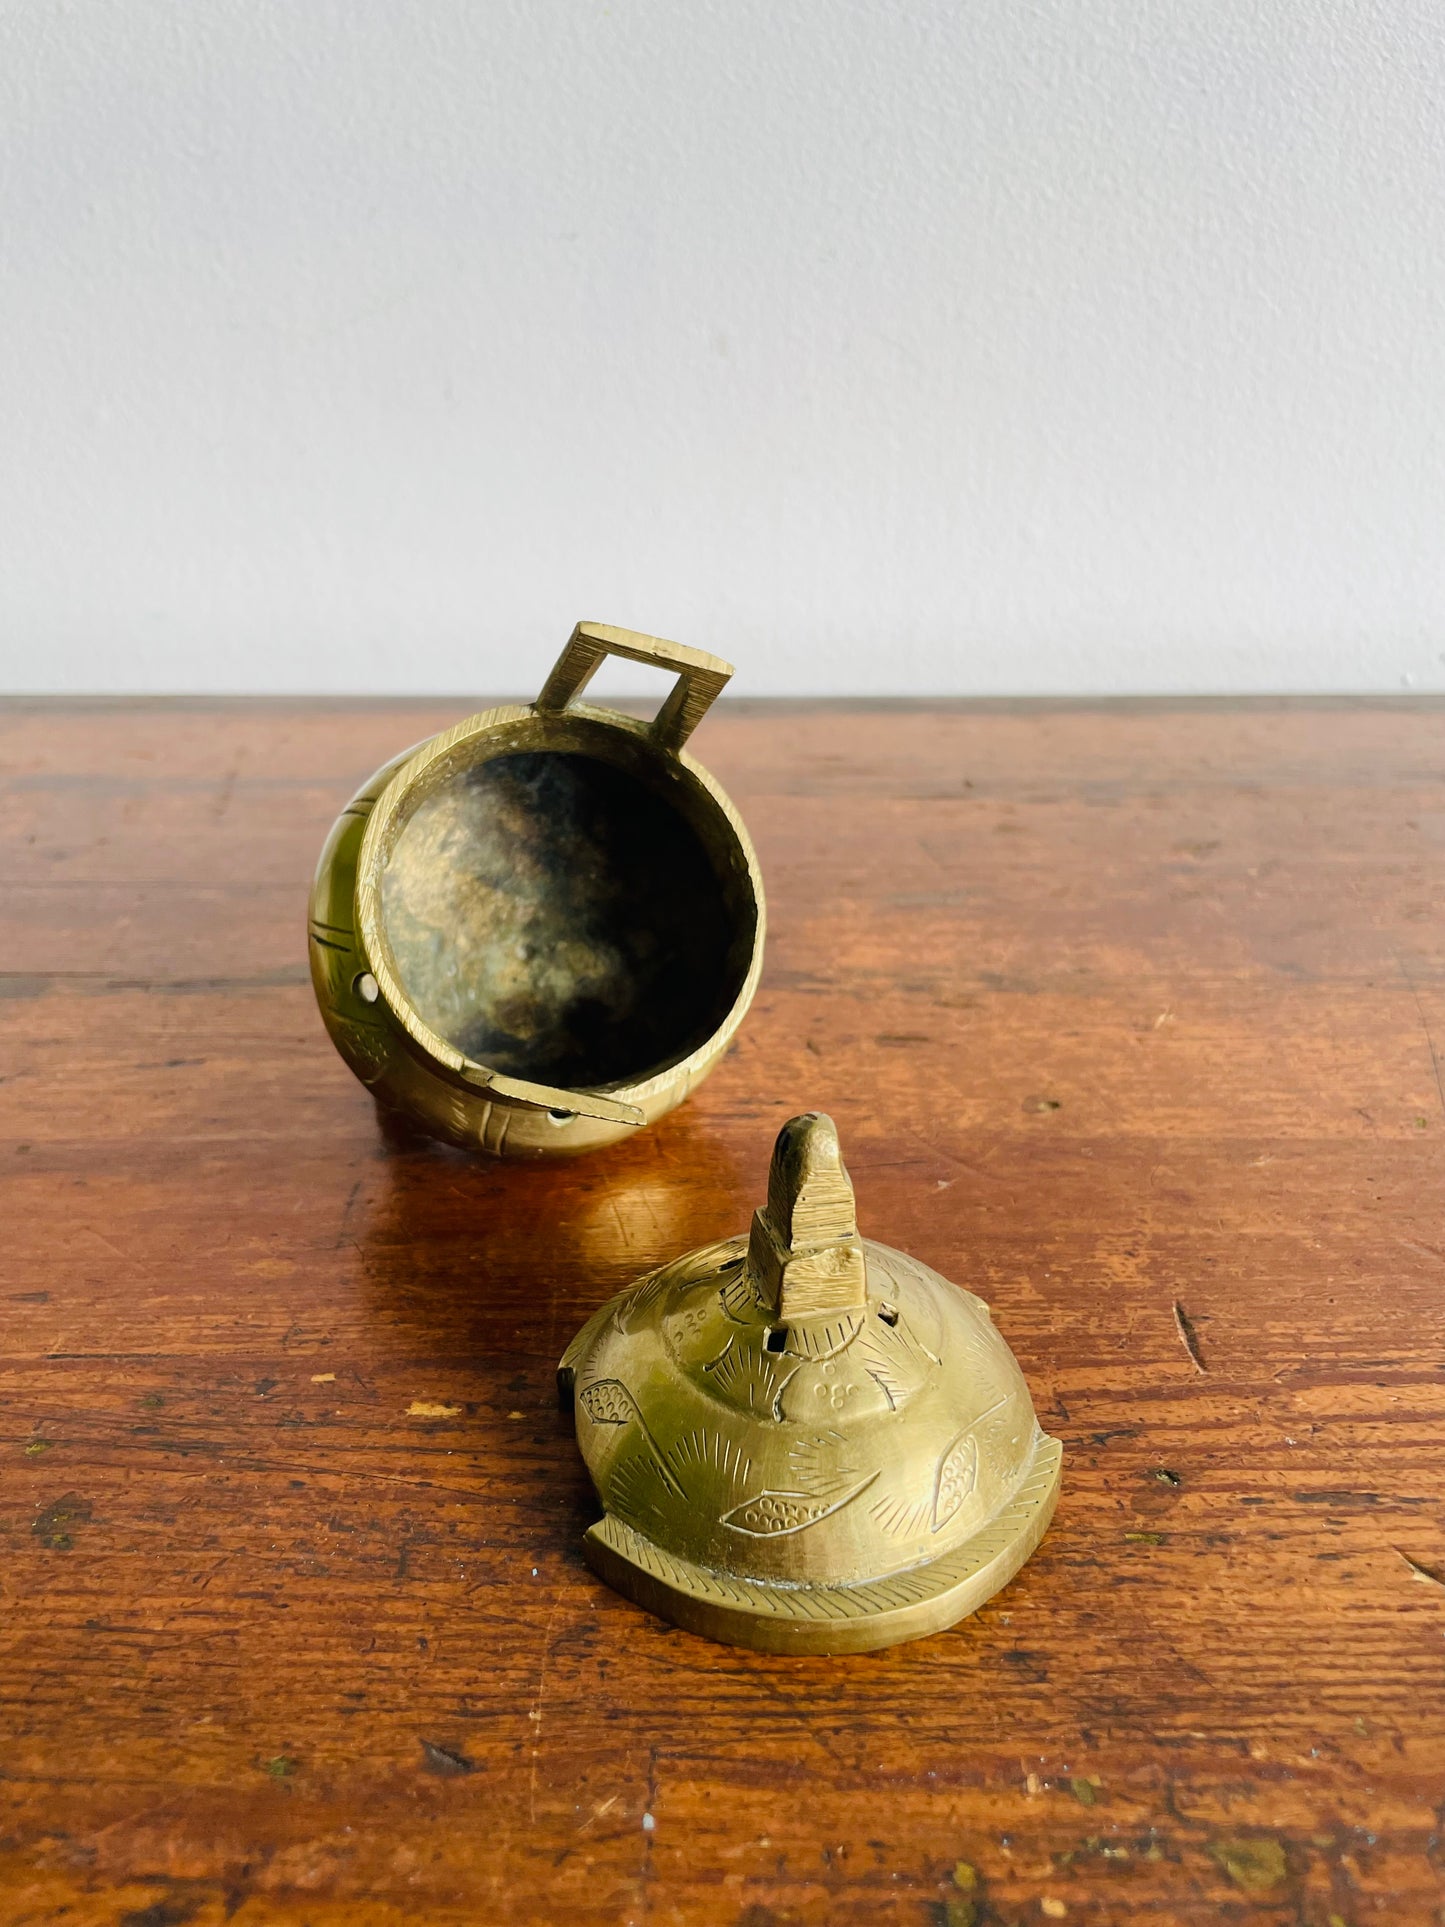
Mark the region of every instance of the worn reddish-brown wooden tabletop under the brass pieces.
[[[459, 713], [0, 713], [0, 1921], [1445, 1917], [1445, 711], [724, 707], [763, 990], [551, 1168], [387, 1137], [306, 983]], [[832, 1661], [593, 1580], [553, 1397], [811, 1106], [1065, 1443]]]

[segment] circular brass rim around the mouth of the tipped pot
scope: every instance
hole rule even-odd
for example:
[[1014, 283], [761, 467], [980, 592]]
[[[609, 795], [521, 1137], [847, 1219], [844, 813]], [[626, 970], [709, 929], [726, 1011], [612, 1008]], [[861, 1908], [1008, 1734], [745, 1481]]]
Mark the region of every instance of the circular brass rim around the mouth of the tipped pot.
[[[484, 755], [468, 753], [482, 744], [486, 744]], [[622, 755], [607, 753], [617, 752], [622, 746], [626, 746]], [[659, 771], [665, 775], [670, 775], [672, 769], [680, 771], [696, 786], [696, 790], [701, 792], [717, 819], [726, 825], [740, 859], [736, 867], [748, 879], [753, 908], [751, 956], [726, 1016], [694, 1050], [680, 1058], [663, 1060], [659, 1066], [649, 1068], [645, 1077], [628, 1077], [566, 1089], [561, 1085], [543, 1085], [534, 1079], [509, 1077], [499, 1071], [491, 1071], [480, 1058], [468, 1058], [462, 1050], [434, 1031], [432, 1025], [426, 1023], [426, 1019], [416, 1012], [401, 983], [401, 973], [397, 969], [397, 960], [385, 927], [381, 896], [385, 869], [403, 831], [410, 823], [416, 809], [420, 809], [420, 805], [453, 777], [459, 777], [468, 769], [476, 769], [482, 763], [489, 763], [499, 755], [528, 753], [538, 750], [591, 755], [595, 761], [607, 763], [613, 769], [622, 769], [640, 779], [653, 790], [653, 794], [659, 796], [663, 794], [663, 788], [657, 782]], [[676, 800], [672, 802], [676, 805]], [[682, 809], [680, 815], [694, 831], [697, 831], [692, 811]], [[709, 859], [715, 861], [715, 842], [709, 838], [701, 840]], [[719, 883], [724, 883], [721, 875]], [[501, 703], [495, 709], [482, 709], [476, 715], [464, 717], [439, 736], [432, 736], [407, 757], [378, 796], [356, 856], [356, 937], [360, 942], [362, 962], [376, 979], [376, 987], [387, 1010], [401, 1025], [407, 1046], [428, 1066], [464, 1091], [489, 1091], [491, 1095], [503, 1098], [511, 1096], [514, 1102], [536, 1106], [539, 1110], [551, 1108], [553, 1104], [563, 1110], [572, 1110], [568, 1104], [570, 1096], [597, 1093], [617, 1104], [636, 1106], [644, 1116], [628, 1122], [644, 1123], [649, 1122], [645, 1112], [651, 1096], [670, 1091], [680, 1079], [686, 1095], [694, 1075], [711, 1066], [719, 1052], [726, 1048], [734, 1031], [748, 1014], [748, 1006], [757, 994], [757, 983], [763, 973], [765, 935], [767, 906], [763, 898], [763, 873], [757, 863], [757, 852], [753, 850], [751, 836], [748, 834], [742, 817], [722, 786], [703, 769], [701, 763], [688, 755], [686, 750], [669, 748], [661, 742], [655, 723], [624, 715], [620, 709], [603, 707], [599, 703], [572, 701], [566, 709], [555, 711], [538, 709], [530, 703]]]

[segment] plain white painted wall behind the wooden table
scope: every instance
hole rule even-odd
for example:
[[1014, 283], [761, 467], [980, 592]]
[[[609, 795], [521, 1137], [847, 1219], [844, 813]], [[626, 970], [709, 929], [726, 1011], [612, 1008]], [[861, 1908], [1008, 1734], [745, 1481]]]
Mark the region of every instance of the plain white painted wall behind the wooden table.
[[1441, 0], [2, 0], [0, 686], [1445, 688]]

